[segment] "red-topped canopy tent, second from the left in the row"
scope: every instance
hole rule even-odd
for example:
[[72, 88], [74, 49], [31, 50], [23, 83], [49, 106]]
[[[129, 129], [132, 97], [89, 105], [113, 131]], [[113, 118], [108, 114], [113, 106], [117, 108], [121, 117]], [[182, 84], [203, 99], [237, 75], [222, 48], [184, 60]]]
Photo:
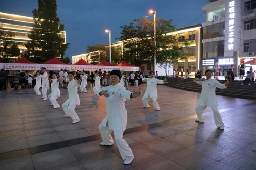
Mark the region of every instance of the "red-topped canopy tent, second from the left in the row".
[[72, 69], [72, 65], [60, 61], [57, 57], [53, 57], [49, 61], [42, 64], [42, 67], [46, 67], [47, 70], [60, 70], [60, 69]]

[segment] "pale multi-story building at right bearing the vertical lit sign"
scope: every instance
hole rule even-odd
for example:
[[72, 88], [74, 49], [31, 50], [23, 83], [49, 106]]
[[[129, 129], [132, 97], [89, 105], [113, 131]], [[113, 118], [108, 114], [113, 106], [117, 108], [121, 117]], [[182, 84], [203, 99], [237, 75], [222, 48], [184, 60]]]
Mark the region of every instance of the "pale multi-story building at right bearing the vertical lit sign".
[[202, 7], [205, 13], [203, 26], [203, 55], [201, 67], [214, 70], [218, 60], [220, 75], [226, 75], [230, 65], [245, 61], [256, 69], [256, 0], [211, 0]]

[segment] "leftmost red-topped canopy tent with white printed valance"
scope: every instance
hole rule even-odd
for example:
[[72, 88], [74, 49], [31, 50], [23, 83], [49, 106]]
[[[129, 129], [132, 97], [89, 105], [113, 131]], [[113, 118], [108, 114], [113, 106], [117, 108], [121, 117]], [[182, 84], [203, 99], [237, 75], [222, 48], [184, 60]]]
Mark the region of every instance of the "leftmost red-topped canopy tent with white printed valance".
[[6, 70], [39, 70], [41, 69], [41, 64], [36, 64], [29, 61], [26, 57], [14, 61], [13, 63], [5, 63]]

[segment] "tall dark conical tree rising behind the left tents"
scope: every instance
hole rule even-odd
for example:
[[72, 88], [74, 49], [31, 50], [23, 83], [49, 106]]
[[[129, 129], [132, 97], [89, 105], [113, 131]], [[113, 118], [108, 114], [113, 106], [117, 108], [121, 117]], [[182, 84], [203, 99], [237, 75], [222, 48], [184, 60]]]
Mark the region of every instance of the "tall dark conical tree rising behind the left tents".
[[41, 58], [39, 62], [53, 57], [63, 58], [69, 46], [61, 37], [64, 25], [60, 23], [56, 11], [56, 0], [38, 0], [38, 9], [32, 11], [35, 24], [28, 36], [32, 41], [26, 44], [26, 55], [38, 60]]

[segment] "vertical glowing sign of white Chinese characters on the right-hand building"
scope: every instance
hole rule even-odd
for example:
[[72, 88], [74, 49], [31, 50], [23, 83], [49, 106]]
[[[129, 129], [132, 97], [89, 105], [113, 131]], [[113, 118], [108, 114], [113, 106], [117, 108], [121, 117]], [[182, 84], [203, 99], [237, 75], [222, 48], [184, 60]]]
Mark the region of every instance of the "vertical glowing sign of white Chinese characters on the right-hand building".
[[228, 50], [234, 49], [234, 1], [229, 2]]

